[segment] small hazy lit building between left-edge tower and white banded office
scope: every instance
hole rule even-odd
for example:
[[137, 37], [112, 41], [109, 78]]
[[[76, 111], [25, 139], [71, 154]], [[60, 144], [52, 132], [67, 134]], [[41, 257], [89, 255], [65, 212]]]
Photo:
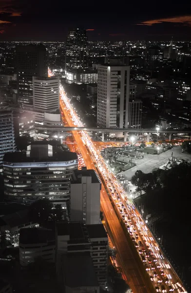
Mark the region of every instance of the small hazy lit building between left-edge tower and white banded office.
[[29, 134], [30, 137], [35, 135], [35, 116], [27, 112], [15, 112], [13, 114], [15, 138]]

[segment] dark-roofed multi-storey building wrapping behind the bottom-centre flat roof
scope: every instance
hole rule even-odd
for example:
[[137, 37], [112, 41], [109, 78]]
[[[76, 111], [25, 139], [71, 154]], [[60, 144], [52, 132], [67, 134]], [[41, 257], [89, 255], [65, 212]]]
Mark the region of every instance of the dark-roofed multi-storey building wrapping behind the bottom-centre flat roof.
[[[103, 241], [103, 242], [102, 242]], [[82, 222], [58, 222], [56, 226], [56, 268], [62, 278], [63, 254], [90, 252], [100, 285], [107, 279], [108, 237], [103, 224], [85, 225]]]

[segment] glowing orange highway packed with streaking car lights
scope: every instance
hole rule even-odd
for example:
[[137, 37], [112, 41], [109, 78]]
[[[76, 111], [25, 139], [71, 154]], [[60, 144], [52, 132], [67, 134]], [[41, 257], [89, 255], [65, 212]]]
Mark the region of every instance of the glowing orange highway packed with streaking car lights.
[[[52, 76], [50, 70], [49, 76]], [[61, 85], [60, 107], [69, 126], [83, 127]], [[132, 291], [134, 293], [151, 292], [136, 258], [139, 255], [146, 272], [149, 274], [155, 292], [186, 292], [179, 277], [161, 251], [134, 204], [127, 197], [125, 190], [117, 182], [115, 176], [107, 169], [99, 150], [94, 146], [87, 131], [74, 131], [73, 135], [86, 167], [94, 168], [102, 181], [101, 208], [105, 214], [108, 233], [119, 256], [117, 263], [122, 268]], [[116, 212], [110, 197], [116, 207]], [[136, 256], [130, 248], [119, 218], [123, 220], [126, 231], [132, 238], [130, 241], [136, 248]]]

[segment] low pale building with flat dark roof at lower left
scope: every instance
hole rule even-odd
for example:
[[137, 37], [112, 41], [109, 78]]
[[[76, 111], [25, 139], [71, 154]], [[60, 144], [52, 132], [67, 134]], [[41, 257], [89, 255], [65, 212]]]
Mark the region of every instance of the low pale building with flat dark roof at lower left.
[[42, 257], [55, 262], [55, 233], [46, 228], [23, 228], [19, 235], [19, 261], [21, 266]]

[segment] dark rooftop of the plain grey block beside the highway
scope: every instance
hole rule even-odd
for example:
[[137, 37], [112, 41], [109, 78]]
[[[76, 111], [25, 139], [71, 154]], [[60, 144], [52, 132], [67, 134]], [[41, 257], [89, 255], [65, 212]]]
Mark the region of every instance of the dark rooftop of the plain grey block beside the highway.
[[96, 174], [95, 170], [87, 169], [86, 167], [82, 167], [81, 170], [74, 170], [71, 183], [81, 183], [82, 176], [92, 177], [92, 183], [100, 183], [99, 177]]

